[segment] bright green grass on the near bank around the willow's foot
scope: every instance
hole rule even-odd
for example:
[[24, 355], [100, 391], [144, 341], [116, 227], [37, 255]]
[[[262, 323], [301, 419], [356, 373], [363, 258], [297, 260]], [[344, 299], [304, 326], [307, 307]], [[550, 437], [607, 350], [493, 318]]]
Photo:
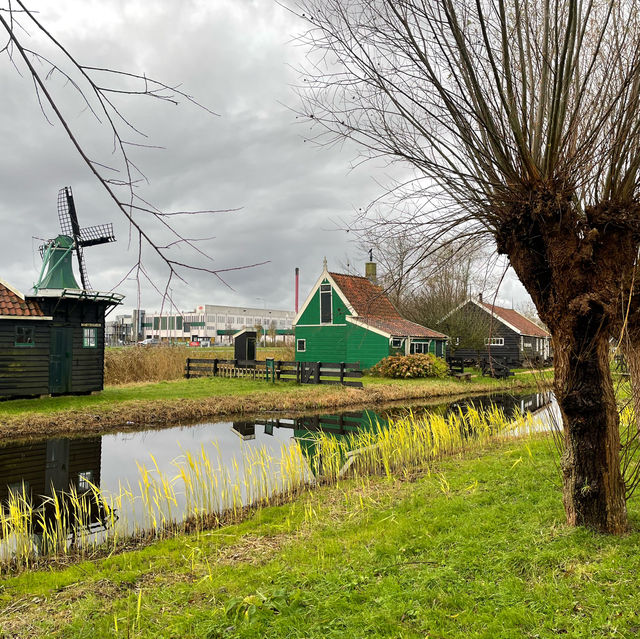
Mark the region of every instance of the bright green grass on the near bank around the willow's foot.
[[[5, 579], [9, 637], [631, 637], [640, 535], [567, 528], [548, 440]], [[630, 503], [633, 523], [638, 508]]]

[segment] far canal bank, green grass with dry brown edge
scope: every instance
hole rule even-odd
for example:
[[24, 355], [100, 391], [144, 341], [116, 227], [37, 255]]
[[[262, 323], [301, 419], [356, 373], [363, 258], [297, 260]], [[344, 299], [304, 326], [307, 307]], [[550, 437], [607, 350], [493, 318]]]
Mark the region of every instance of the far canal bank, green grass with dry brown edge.
[[0, 402], [0, 439], [136, 430], [265, 412], [322, 411], [536, 388], [540, 374], [469, 382], [364, 379], [363, 389], [226, 378], [109, 386], [96, 395]]

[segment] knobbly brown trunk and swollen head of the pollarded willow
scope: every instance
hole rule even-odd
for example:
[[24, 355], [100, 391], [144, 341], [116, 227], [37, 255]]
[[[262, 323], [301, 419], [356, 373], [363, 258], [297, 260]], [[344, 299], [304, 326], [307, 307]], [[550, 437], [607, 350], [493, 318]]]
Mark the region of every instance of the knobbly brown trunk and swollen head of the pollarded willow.
[[635, 240], [608, 224], [612, 205], [583, 216], [558, 194], [555, 202], [548, 192], [533, 194], [514, 207], [498, 250], [509, 256], [552, 335], [567, 523], [622, 534], [628, 520], [609, 338]]

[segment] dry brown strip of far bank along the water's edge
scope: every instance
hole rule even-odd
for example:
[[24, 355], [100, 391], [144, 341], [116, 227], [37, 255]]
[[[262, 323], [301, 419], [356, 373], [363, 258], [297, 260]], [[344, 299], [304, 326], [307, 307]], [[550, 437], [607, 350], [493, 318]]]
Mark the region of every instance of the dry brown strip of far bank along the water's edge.
[[136, 431], [150, 427], [175, 426], [208, 420], [222, 420], [264, 413], [304, 413], [324, 410], [373, 407], [394, 401], [437, 400], [500, 391], [521, 392], [539, 389], [539, 384], [512, 380], [504, 385], [452, 384], [436, 386], [375, 385], [363, 389], [341, 388], [336, 392], [270, 393], [225, 395], [198, 399], [126, 401], [108, 407], [32, 413], [0, 417], [0, 440], [42, 439], [44, 437], [99, 435], [112, 431]]

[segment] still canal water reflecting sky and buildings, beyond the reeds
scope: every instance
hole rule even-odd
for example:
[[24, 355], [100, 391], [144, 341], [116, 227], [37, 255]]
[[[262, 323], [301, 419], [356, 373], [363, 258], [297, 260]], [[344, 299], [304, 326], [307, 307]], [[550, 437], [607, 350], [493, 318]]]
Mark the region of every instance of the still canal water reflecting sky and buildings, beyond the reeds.
[[[450, 411], [464, 411], [468, 405], [476, 408], [490, 404], [501, 407], [509, 417], [516, 412], [541, 414], [540, 429], [548, 429], [544, 414], [553, 410], [548, 393], [522, 396], [492, 395], [474, 397], [437, 406], [416, 406], [411, 410], [420, 414], [435, 412], [446, 415]], [[302, 454], [311, 433], [322, 431], [341, 438], [350, 432], [371, 429], [376, 423], [384, 426], [389, 417], [406, 413], [406, 408], [389, 408], [322, 414], [306, 417], [272, 417], [251, 421], [204, 423], [178, 426], [163, 430], [137, 433], [115, 433], [101, 437], [49, 439], [28, 444], [0, 446], [0, 503], [6, 503], [10, 491], [29, 495], [34, 505], [43, 496], [68, 493], [79, 494], [91, 485], [103, 495], [118, 494], [127, 487], [132, 491], [140, 486], [141, 468], [154, 476], [171, 478], [178, 472], [176, 462], [185, 464], [187, 454], [206, 455], [215, 460], [216, 469], [224, 469], [234, 479], [246, 473], [242, 460], [266, 455], [278, 459], [292, 441], [300, 443]], [[311, 468], [308, 476], [311, 478]], [[273, 489], [278, 478], [273, 478]], [[240, 496], [243, 502], [251, 495]], [[184, 507], [184, 496], [176, 496], [176, 512]], [[131, 525], [143, 526], [143, 514], [136, 503], [125, 503], [119, 517]]]

